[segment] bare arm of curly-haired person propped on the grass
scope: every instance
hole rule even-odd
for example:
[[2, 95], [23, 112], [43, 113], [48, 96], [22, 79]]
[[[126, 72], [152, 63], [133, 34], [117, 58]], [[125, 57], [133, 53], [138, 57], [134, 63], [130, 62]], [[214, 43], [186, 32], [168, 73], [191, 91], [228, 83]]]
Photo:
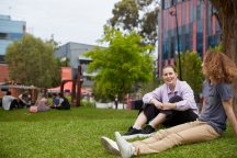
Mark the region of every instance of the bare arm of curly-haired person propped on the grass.
[[223, 101], [223, 106], [225, 109], [228, 121], [235, 132], [235, 135], [237, 136], [237, 121], [236, 121], [235, 113], [233, 111], [233, 99]]

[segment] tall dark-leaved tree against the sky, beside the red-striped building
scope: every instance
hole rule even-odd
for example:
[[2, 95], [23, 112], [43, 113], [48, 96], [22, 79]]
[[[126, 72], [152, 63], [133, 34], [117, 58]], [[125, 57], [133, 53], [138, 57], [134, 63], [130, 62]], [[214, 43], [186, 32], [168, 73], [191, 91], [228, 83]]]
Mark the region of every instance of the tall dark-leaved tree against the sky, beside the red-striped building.
[[156, 45], [158, 25], [157, 0], [122, 0], [114, 4], [113, 18], [108, 20], [109, 26], [125, 32], [136, 30], [143, 36], [143, 43]]

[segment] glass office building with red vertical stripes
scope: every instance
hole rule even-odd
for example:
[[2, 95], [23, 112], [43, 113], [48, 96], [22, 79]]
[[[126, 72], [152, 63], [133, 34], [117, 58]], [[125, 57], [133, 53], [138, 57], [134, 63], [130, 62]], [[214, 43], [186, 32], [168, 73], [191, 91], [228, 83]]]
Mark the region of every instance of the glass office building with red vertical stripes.
[[177, 34], [180, 52], [195, 50], [201, 57], [210, 46], [214, 47], [221, 41], [221, 29], [216, 18], [211, 13], [212, 4], [208, 0], [161, 0], [160, 2], [158, 78], [161, 77], [162, 67], [173, 64], [178, 57]]

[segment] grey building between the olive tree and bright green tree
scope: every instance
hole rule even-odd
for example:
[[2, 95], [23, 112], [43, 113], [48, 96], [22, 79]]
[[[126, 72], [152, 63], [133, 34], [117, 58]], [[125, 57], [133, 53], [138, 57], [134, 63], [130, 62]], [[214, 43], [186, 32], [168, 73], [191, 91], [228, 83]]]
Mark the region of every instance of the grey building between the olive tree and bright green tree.
[[[77, 74], [78, 65], [81, 65], [83, 75], [83, 87], [91, 90], [93, 81], [91, 77], [95, 76], [98, 72], [91, 75], [87, 74], [87, 66], [91, 61], [91, 58], [86, 58], [82, 56], [83, 53], [93, 49], [94, 45], [80, 44], [69, 42], [60, 47], [60, 49], [55, 52], [56, 57], [67, 57], [70, 59], [70, 67], [72, 68], [72, 77]], [[101, 47], [104, 48], [104, 47]], [[71, 78], [72, 78], [71, 77]]]

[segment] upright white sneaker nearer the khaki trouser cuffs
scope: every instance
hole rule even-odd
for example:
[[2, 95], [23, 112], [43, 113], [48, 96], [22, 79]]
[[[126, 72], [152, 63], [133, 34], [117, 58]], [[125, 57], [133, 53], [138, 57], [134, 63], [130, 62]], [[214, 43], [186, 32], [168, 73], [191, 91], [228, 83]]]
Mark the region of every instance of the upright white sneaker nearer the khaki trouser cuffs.
[[134, 154], [133, 146], [127, 143], [119, 132], [115, 132], [116, 143], [122, 158], [131, 158]]

